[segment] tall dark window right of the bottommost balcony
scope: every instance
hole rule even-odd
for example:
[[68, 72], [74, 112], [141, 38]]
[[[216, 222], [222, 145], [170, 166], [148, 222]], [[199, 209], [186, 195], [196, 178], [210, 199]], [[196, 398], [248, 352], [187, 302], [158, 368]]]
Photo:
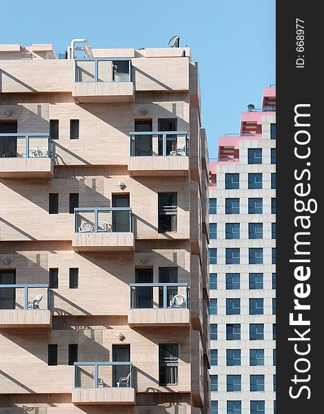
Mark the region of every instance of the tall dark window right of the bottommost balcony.
[[159, 385], [178, 384], [179, 345], [159, 344]]

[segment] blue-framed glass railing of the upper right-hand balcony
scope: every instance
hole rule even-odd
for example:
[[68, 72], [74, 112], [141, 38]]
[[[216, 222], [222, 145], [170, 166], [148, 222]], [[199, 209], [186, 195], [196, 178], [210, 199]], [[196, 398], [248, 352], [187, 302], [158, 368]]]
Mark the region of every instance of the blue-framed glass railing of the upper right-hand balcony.
[[130, 132], [131, 157], [188, 157], [188, 132]]

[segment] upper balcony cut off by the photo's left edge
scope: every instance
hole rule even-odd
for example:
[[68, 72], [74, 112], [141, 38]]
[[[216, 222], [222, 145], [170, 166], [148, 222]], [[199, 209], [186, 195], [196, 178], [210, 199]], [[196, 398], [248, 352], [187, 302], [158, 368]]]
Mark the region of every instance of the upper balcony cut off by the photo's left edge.
[[0, 178], [52, 178], [52, 141], [47, 132], [0, 134]]

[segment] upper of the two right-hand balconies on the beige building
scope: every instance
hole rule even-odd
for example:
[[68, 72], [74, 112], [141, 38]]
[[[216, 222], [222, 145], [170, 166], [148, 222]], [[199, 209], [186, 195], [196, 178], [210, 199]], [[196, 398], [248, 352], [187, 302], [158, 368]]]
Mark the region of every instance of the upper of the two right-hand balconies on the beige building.
[[130, 132], [128, 172], [132, 177], [188, 175], [187, 132]]

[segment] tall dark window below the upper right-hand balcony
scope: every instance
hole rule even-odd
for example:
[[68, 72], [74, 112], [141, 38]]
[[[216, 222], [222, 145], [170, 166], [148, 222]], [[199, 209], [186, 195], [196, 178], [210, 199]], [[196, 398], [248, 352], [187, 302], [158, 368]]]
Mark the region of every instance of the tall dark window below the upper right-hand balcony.
[[176, 193], [159, 193], [159, 233], [176, 231]]

